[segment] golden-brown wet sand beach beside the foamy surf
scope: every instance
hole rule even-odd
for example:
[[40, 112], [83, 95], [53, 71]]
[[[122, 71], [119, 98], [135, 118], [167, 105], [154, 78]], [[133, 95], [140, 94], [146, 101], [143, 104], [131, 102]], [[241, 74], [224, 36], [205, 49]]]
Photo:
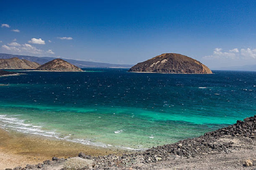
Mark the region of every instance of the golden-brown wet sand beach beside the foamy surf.
[[38, 135], [8, 132], [0, 128], [0, 170], [42, 163], [44, 160], [51, 160], [53, 156], [58, 158], [75, 157], [80, 152], [88, 155], [107, 155], [122, 154], [124, 151]]

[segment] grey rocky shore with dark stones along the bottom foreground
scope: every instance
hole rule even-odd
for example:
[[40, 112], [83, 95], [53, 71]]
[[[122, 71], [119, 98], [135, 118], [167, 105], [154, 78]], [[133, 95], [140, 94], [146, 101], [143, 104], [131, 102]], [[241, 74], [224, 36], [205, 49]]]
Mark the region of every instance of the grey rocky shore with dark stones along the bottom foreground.
[[[90, 156], [87, 169], [256, 169], [256, 115], [236, 124], [205, 133], [193, 139], [121, 155]], [[24, 169], [65, 169], [68, 159], [53, 157], [42, 164], [16, 167]], [[84, 168], [85, 169], [85, 168]]]

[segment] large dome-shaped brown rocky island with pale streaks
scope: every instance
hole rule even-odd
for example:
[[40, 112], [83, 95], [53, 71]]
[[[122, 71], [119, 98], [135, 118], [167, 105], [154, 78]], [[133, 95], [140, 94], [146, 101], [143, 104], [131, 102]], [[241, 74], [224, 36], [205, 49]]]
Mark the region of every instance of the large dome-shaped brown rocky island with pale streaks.
[[130, 72], [211, 74], [199, 61], [185, 55], [164, 53], [131, 67]]

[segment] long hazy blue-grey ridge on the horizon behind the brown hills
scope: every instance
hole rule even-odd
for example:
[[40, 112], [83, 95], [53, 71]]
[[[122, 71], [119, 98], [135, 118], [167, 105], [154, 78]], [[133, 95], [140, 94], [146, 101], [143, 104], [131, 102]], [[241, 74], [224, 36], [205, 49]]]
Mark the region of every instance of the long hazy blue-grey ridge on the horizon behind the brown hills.
[[[3, 54], [0, 53], [0, 58], [13, 58], [17, 57], [19, 59], [25, 59], [31, 62], [39, 63], [40, 65], [45, 64], [49, 61], [55, 60], [55, 57], [35, 57], [35, 56], [27, 56], [27, 55], [13, 55], [13, 54]], [[77, 61], [61, 58], [77, 67], [98, 67], [98, 68], [131, 68], [132, 65], [125, 64], [109, 64], [109, 63], [97, 63], [97, 62], [87, 62], [87, 61]]]

